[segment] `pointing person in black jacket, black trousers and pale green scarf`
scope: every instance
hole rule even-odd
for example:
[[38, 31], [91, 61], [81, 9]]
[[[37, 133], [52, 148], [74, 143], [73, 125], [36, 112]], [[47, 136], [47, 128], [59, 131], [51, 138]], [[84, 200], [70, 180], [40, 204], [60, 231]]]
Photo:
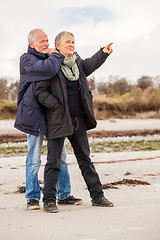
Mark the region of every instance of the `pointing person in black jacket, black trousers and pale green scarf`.
[[[75, 50], [74, 35], [61, 32], [55, 38], [57, 51], [65, 56], [60, 70], [52, 80], [37, 83], [35, 95], [46, 107], [48, 155], [44, 172], [44, 211], [58, 212], [56, 183], [60, 171], [60, 155], [64, 138], [74, 149], [79, 168], [87, 184], [93, 206], [112, 207], [104, 197], [99, 176], [89, 158], [86, 130], [96, 127], [92, 94], [87, 76], [99, 68], [112, 53], [112, 43], [91, 58], [82, 60]], [[53, 154], [54, 153], [54, 154]]]

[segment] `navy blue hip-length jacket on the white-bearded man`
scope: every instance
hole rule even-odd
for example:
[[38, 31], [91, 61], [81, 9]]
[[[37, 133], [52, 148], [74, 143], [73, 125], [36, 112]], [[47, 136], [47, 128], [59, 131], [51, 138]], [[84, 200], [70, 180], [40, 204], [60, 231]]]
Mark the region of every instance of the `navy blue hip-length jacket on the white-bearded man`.
[[38, 136], [46, 133], [44, 112], [35, 98], [38, 81], [52, 79], [64, 60], [60, 53], [46, 54], [28, 46], [28, 52], [20, 57], [20, 84], [17, 99], [17, 114], [14, 127], [22, 132]]

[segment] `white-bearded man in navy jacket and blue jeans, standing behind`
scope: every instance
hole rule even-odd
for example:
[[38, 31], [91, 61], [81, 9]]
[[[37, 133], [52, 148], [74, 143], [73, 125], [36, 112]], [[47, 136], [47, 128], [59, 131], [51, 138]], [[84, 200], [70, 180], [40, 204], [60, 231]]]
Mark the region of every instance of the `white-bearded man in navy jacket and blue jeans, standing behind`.
[[[27, 208], [39, 209], [40, 186], [38, 171], [41, 165], [41, 148], [46, 123], [44, 110], [35, 99], [38, 81], [53, 78], [60, 69], [64, 56], [55, 49], [49, 49], [47, 34], [34, 29], [28, 35], [28, 52], [20, 58], [20, 85], [17, 101], [17, 115], [14, 127], [27, 133], [28, 153], [26, 158]], [[56, 108], [56, 106], [52, 106]], [[60, 177], [57, 184], [60, 204], [80, 204], [82, 200], [71, 196], [70, 176], [66, 163], [65, 145], [61, 154]]]

